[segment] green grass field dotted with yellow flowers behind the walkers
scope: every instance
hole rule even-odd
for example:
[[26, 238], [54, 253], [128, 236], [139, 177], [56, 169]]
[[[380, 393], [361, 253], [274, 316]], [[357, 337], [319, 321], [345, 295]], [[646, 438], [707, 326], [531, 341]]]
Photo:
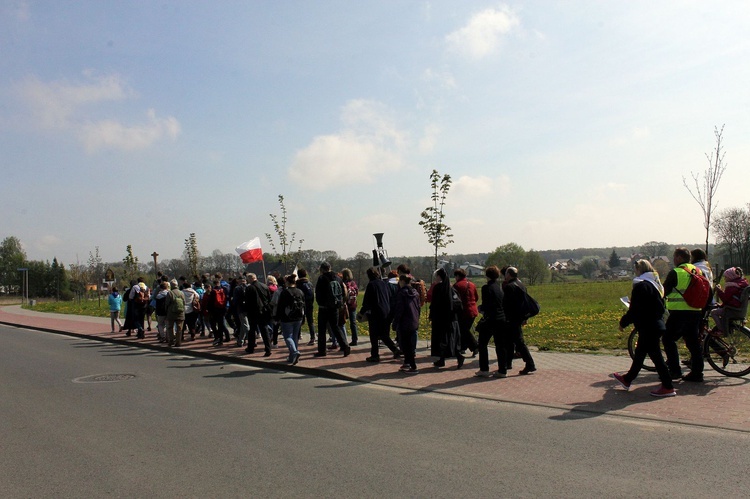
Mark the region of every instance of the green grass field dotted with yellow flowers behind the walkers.
[[[484, 281], [477, 280], [477, 287]], [[524, 328], [526, 342], [540, 350], [558, 352], [624, 352], [627, 335], [617, 322], [625, 309], [620, 297], [629, 295], [631, 281], [575, 282], [530, 286], [528, 291], [541, 304], [538, 316]], [[360, 302], [362, 293], [359, 295]], [[107, 300], [37, 303], [35, 310], [109, 317]], [[427, 306], [422, 311], [419, 336], [429, 338]], [[367, 323], [360, 323], [367, 334]], [[306, 328], [303, 328], [306, 330]]]

